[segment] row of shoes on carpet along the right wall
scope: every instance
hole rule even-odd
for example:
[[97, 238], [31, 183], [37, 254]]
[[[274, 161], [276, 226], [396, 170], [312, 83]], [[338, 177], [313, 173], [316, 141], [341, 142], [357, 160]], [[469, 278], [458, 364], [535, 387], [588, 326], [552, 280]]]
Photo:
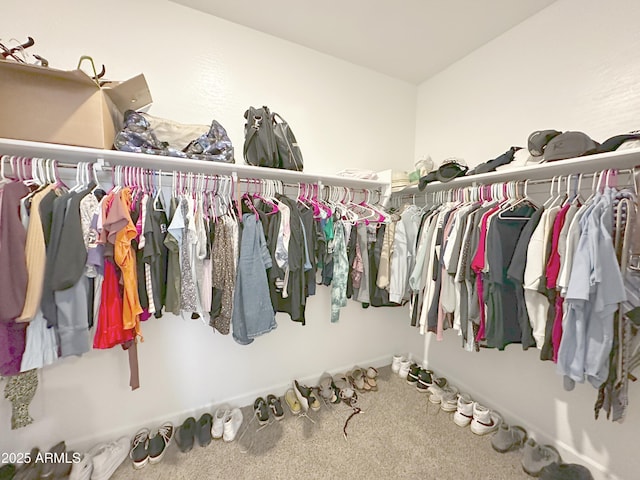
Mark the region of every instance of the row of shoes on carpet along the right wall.
[[500, 453], [523, 449], [522, 469], [533, 477], [545, 480], [576, 479], [589, 480], [593, 477], [589, 470], [578, 464], [563, 463], [559, 452], [552, 445], [538, 444], [528, 438], [524, 428], [508, 425], [502, 416], [479, 402], [473, 401], [467, 393], [447, 383], [431, 370], [422, 368], [416, 362], [402, 355], [394, 355], [391, 369], [419, 392], [428, 393], [430, 405], [439, 405], [444, 412], [454, 412], [453, 422], [459, 427], [470, 426], [476, 435], [494, 433], [491, 446]]

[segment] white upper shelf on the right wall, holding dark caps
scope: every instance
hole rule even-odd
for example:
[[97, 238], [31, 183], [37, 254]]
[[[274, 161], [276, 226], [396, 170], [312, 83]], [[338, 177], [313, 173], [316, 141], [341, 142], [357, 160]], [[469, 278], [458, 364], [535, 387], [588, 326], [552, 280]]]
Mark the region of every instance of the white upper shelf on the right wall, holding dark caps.
[[[509, 182], [512, 180], [545, 180], [559, 175], [566, 176], [577, 173], [593, 173], [609, 168], [616, 170], [630, 169], [636, 165], [640, 165], [640, 148], [569, 158], [550, 163], [513, 168], [511, 170], [479, 173], [478, 175], [458, 177], [445, 183], [432, 182], [429, 183], [422, 192], [435, 192], [466, 187], [473, 184], [483, 185]], [[412, 186], [396, 192], [395, 195], [413, 195], [416, 193], [420, 193], [420, 190], [417, 186]]]

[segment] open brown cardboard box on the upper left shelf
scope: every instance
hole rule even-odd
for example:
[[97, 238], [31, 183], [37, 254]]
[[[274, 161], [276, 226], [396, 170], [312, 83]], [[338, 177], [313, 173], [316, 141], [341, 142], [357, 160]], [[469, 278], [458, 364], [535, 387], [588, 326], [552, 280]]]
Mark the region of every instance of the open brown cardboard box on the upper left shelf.
[[82, 70], [0, 60], [0, 137], [113, 148], [126, 110], [151, 103], [144, 75], [99, 86]]

